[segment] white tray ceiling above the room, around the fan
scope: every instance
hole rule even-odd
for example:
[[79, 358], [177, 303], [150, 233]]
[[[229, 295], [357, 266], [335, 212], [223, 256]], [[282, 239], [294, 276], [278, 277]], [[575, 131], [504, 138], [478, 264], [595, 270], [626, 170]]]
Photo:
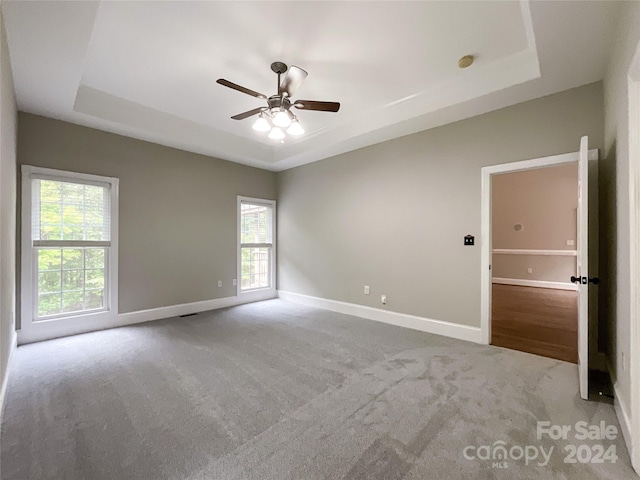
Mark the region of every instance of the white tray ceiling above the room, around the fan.
[[[269, 170], [601, 80], [619, 2], [2, 2], [18, 108]], [[457, 67], [466, 54], [468, 69]], [[307, 133], [229, 117], [309, 72]]]

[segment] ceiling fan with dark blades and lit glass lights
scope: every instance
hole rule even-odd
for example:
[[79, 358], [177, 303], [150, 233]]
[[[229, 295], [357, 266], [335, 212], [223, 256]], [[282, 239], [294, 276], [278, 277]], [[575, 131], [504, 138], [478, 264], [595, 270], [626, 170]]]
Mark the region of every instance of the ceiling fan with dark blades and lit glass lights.
[[[270, 97], [237, 85], [224, 78], [217, 80], [217, 83], [220, 85], [267, 101], [266, 107], [258, 107], [244, 113], [239, 113], [231, 117], [232, 119], [243, 120], [253, 115], [258, 115], [258, 119], [253, 124], [253, 129], [260, 132], [268, 131], [269, 138], [282, 140], [285, 137], [282, 128], [288, 127], [287, 133], [290, 135], [302, 135], [304, 133], [304, 129], [302, 125], [300, 125], [298, 117], [291, 111], [291, 107], [319, 112], [337, 112], [340, 109], [339, 102], [291, 99], [293, 93], [302, 85], [302, 82], [304, 82], [304, 79], [307, 78], [308, 75], [308, 73], [300, 67], [291, 65], [291, 68], [288, 68], [287, 65], [282, 62], [274, 62], [271, 64], [271, 70], [278, 75], [278, 93]], [[280, 76], [285, 72], [287, 72], [287, 74], [282, 82], [280, 82]]]

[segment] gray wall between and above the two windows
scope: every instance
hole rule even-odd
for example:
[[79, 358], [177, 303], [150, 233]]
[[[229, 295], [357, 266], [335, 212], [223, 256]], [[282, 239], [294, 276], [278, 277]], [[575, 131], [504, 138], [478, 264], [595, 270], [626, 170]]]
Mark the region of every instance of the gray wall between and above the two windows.
[[236, 197], [275, 199], [274, 173], [22, 112], [18, 120], [21, 165], [120, 179], [120, 312], [236, 294]]

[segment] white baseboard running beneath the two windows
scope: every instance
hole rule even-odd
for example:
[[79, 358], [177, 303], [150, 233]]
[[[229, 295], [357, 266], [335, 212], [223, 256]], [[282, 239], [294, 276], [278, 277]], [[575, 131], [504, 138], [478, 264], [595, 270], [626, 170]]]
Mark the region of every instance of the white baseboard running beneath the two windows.
[[104, 319], [91, 323], [73, 323], [69, 325], [69, 323], [62, 324], [62, 322], [59, 321], [38, 322], [39, 325], [32, 324], [30, 328], [23, 328], [18, 331], [18, 345], [51, 340], [53, 338], [66, 337], [69, 335], [77, 335], [80, 333], [89, 333], [99, 330], [107, 330], [110, 328], [124, 327], [127, 325], [135, 325], [136, 323], [150, 322], [153, 320], [161, 320], [163, 318], [177, 317], [180, 315], [206, 312], [208, 310], [241, 305], [243, 303], [269, 300], [271, 298], [277, 298], [277, 296], [278, 294], [275, 290], [258, 290], [255, 292], [242, 293], [241, 295], [233, 297], [214, 298], [212, 300], [203, 300], [200, 302], [183, 303], [179, 305], [169, 305], [166, 307], [150, 308], [148, 310], [139, 310], [136, 312], [119, 313], [115, 318], [114, 316], [105, 317]]

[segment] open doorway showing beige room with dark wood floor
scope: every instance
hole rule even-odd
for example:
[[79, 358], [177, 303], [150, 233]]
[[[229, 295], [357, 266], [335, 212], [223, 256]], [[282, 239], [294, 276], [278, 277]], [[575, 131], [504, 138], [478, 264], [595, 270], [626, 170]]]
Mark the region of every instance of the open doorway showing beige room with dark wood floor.
[[577, 167], [491, 176], [492, 345], [578, 363]]

